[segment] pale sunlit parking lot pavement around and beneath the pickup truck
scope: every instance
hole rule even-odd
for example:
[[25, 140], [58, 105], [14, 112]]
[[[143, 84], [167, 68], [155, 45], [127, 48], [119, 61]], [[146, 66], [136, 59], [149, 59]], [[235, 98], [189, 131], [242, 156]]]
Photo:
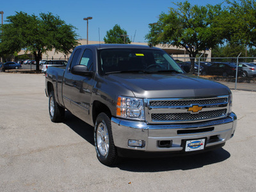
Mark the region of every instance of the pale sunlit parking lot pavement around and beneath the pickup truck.
[[54, 124], [42, 74], [0, 73], [0, 191], [256, 191], [256, 92], [232, 90], [234, 138], [205, 154], [99, 163], [93, 128]]

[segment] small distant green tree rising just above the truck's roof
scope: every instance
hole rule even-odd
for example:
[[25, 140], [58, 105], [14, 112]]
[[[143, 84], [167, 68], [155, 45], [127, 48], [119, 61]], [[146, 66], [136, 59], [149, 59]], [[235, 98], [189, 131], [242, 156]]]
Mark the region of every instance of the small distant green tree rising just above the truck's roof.
[[106, 44], [131, 44], [127, 31], [121, 29], [118, 24], [116, 24], [113, 29], [107, 31], [107, 34], [103, 39]]

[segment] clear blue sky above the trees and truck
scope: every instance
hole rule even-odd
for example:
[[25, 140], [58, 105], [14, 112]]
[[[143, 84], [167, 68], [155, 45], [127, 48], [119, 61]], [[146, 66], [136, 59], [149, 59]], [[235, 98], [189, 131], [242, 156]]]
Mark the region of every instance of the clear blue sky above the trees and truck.
[[[26, 12], [29, 15], [51, 12], [76, 27], [78, 38], [87, 36], [87, 22], [83, 18], [93, 17], [89, 20], [88, 40], [103, 41], [106, 31], [118, 24], [127, 31], [132, 42], [147, 42], [145, 35], [149, 31], [148, 24], [157, 22], [158, 16], [162, 12], [168, 13], [170, 7], [176, 8], [173, 2], [184, 0], [2, 0], [0, 11], [4, 12], [4, 23], [6, 17], [15, 15], [15, 12]], [[189, 3], [201, 6], [222, 2], [223, 0], [189, 0]]]

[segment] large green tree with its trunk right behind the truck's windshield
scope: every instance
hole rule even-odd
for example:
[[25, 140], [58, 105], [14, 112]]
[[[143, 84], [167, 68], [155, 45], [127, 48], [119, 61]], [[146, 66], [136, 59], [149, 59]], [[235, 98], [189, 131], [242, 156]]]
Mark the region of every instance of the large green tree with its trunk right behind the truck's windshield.
[[[174, 3], [175, 4], [175, 3]], [[167, 44], [184, 47], [191, 60], [190, 72], [195, 71], [196, 54], [223, 43], [223, 34], [218, 28], [221, 4], [191, 6], [188, 1], [175, 4], [168, 13], [161, 13], [156, 24], [150, 24], [145, 36], [148, 44]]]

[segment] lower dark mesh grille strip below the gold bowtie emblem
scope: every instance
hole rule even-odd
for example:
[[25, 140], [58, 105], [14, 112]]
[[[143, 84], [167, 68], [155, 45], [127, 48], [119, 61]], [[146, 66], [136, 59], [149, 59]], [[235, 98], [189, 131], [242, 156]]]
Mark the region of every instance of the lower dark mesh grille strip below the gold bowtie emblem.
[[209, 118], [217, 118], [225, 116], [227, 109], [214, 111], [202, 111], [196, 114], [193, 113], [153, 113], [153, 121], [188, 121], [188, 120], [205, 120]]

